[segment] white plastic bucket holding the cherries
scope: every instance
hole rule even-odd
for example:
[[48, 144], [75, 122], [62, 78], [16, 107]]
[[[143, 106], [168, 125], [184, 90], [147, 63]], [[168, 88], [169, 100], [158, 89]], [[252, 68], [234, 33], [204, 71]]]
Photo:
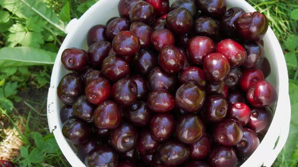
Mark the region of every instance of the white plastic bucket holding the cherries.
[[[228, 8], [240, 7], [245, 12], [256, 11], [244, 0], [226, 0]], [[86, 35], [88, 30], [96, 25], [103, 24], [118, 14], [119, 0], [100, 0], [93, 5], [80, 19], [73, 19], [66, 28], [68, 34], [58, 52], [47, 97], [47, 119], [49, 130], [54, 133], [56, 141], [64, 156], [72, 166], [85, 166], [77, 157], [73, 145], [62, 135], [60, 108], [63, 104], [57, 96], [57, 86], [61, 78], [68, 73], [61, 63], [61, 54], [66, 48], [77, 47], [87, 50]], [[174, 0], [170, 0], [171, 3]], [[284, 146], [290, 123], [290, 100], [288, 95], [288, 74], [282, 49], [271, 28], [264, 37], [265, 54], [271, 65], [271, 74], [266, 78], [276, 87], [278, 101], [271, 126], [257, 150], [241, 166], [271, 166], [278, 153]], [[278, 139], [279, 138], [279, 139]], [[278, 140], [278, 141], [277, 141]], [[276, 146], [275, 146], [276, 144]]]

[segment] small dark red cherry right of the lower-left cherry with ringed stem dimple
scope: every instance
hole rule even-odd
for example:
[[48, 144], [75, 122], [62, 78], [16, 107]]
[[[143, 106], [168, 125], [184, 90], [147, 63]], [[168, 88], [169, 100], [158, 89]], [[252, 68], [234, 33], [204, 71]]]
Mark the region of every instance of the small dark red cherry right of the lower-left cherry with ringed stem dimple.
[[158, 145], [158, 141], [151, 136], [150, 130], [144, 129], [138, 134], [136, 146], [140, 153], [154, 153], [157, 150]]

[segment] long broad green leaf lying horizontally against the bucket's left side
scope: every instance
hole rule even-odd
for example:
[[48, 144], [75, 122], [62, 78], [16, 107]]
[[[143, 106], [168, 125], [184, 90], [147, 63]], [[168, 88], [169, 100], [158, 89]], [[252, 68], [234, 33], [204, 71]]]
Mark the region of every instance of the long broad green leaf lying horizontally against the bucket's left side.
[[56, 53], [31, 47], [4, 47], [0, 55], [1, 67], [54, 64], [56, 58]]

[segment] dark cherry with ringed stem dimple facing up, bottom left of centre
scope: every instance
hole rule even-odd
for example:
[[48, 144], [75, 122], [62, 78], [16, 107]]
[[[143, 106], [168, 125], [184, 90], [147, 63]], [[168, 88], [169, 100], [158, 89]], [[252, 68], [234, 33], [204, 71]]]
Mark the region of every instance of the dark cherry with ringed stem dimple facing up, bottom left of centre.
[[133, 149], [136, 143], [137, 130], [128, 123], [121, 123], [111, 133], [111, 145], [119, 152], [127, 152]]

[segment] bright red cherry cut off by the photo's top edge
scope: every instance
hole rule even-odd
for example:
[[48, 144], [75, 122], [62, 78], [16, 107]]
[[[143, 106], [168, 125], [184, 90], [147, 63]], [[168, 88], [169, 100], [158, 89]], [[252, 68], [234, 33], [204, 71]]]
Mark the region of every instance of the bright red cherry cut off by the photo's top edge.
[[148, 4], [152, 5], [157, 17], [163, 16], [168, 13], [170, 2], [169, 0], [145, 0]]

